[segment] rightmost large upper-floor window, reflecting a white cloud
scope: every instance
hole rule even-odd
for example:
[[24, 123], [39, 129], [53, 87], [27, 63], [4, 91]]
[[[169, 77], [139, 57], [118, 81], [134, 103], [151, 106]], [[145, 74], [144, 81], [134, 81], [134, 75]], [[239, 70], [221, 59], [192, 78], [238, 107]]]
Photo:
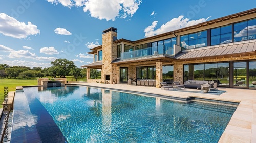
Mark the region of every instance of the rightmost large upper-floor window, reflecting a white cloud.
[[256, 19], [234, 23], [234, 42], [256, 39]]

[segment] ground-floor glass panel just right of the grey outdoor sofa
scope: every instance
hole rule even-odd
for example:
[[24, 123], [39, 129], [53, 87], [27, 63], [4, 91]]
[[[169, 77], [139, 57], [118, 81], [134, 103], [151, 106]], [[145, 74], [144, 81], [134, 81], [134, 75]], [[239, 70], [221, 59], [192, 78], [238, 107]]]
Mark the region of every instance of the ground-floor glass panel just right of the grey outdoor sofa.
[[217, 64], [218, 86], [229, 86], [229, 63]]

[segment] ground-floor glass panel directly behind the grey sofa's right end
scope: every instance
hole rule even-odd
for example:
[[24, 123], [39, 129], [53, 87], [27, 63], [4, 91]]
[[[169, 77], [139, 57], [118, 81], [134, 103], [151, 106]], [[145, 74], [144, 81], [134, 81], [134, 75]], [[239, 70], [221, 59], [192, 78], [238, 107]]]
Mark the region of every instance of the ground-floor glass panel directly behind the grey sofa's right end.
[[217, 79], [217, 63], [204, 65], [204, 80], [216, 81]]

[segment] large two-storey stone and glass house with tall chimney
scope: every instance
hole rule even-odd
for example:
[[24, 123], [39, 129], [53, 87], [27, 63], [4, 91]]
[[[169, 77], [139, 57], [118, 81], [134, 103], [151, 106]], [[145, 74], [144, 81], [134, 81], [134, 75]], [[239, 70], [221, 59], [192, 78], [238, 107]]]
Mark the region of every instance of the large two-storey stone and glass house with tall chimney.
[[[94, 62], [81, 66], [89, 83], [208, 80], [256, 89], [256, 8], [136, 41], [118, 39], [111, 27], [90, 50]], [[91, 79], [90, 69], [101, 69], [101, 79]]]

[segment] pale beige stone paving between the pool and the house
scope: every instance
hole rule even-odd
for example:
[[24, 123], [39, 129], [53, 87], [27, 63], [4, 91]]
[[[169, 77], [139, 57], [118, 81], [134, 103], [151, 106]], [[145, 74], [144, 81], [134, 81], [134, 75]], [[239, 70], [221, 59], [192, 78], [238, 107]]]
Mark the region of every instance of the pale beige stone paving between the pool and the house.
[[161, 90], [160, 88], [132, 86], [127, 84], [100, 84], [100, 83], [76, 83], [77, 85], [103, 87], [117, 90], [128, 90], [135, 92], [144, 92], [159, 94], [163, 96], [178, 98], [205, 98], [212, 100], [221, 100], [229, 102], [240, 102], [237, 110], [234, 112], [219, 142], [256, 142], [256, 91], [250, 89], [222, 88], [226, 91], [221, 95], [212, 95], [209, 93], [194, 93], [187, 91], [198, 91], [196, 89], [177, 89], [186, 90], [186, 92], [175, 90]]

